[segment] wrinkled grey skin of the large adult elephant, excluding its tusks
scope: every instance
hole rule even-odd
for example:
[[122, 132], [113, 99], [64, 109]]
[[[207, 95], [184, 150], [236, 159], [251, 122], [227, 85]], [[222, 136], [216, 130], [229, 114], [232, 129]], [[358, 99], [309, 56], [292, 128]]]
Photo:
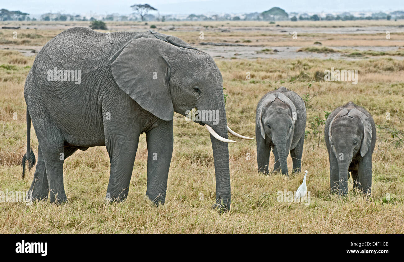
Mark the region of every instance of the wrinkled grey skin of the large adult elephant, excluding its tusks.
[[[81, 70], [80, 85], [48, 81], [47, 71], [55, 67]], [[116, 32], [108, 38], [84, 27], [65, 30], [36, 56], [24, 95], [39, 142], [29, 189], [33, 199], [47, 199], [50, 189], [51, 202], [67, 201], [60, 153], [66, 159], [77, 149], [106, 146], [111, 163], [107, 199], [124, 201], [139, 136], [146, 133], [146, 194], [151, 201], [164, 203], [173, 112], [185, 116], [194, 107], [219, 110], [217, 125], [208, 120], [200, 124], [227, 138], [222, 76], [213, 58], [179, 38], [156, 32]], [[216, 173], [214, 207], [229, 209], [228, 146], [210, 139]]]

